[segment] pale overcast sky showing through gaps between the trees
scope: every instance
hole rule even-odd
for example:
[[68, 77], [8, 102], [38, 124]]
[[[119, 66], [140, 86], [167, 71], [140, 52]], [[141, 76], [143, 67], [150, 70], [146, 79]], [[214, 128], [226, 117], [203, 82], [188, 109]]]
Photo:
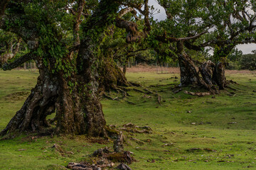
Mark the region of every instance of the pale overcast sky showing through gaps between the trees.
[[[160, 9], [160, 13], [156, 13], [154, 15], [155, 19], [164, 20], [166, 18], [166, 13], [164, 11], [164, 8], [159, 6], [156, 0], [149, 0], [149, 5], [153, 5], [154, 8]], [[249, 54], [249, 53], [252, 53], [252, 50], [256, 50], [256, 44], [238, 45], [237, 47], [238, 47], [238, 50], [242, 50], [243, 54]]]

